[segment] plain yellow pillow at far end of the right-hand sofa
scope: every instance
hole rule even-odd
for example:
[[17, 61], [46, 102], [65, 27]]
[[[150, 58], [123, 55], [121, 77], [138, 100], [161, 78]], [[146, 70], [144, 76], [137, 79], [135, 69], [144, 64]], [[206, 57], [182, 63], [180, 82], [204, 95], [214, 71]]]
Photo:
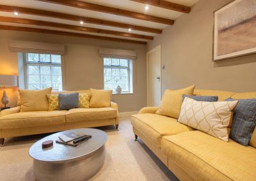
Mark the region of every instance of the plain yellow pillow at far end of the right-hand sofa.
[[164, 96], [161, 101], [161, 106], [157, 110], [157, 114], [166, 115], [175, 119], [179, 118], [180, 107], [182, 104], [182, 95], [192, 95], [195, 89], [195, 85], [191, 85], [184, 89], [169, 90], [164, 92]]

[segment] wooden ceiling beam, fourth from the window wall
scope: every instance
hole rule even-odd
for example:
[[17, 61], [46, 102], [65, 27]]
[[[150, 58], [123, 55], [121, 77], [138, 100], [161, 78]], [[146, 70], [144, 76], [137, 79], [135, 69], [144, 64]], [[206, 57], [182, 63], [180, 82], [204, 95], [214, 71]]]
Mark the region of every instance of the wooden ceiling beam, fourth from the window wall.
[[99, 11], [102, 13], [109, 13], [113, 15], [120, 15], [124, 17], [129, 17], [129, 18], [136, 18], [139, 20], [146, 20], [150, 22], [157, 22], [160, 24], [168, 24], [168, 25], [173, 25], [174, 20], [170, 20], [167, 18], [161, 18], [161, 17], [155, 17], [152, 15], [145, 15], [143, 13], [137, 13], [134, 11], [128, 11], [128, 10], [122, 10], [119, 8], [112, 8], [109, 6], [102, 6], [99, 4], [93, 4], [93, 3], [87, 3], [84, 1], [77, 1], [77, 0], [36, 0], [36, 1], [44, 1], [47, 3], [54, 3], [54, 4], [61, 4], [65, 6], [71, 6], [75, 8], [81, 8], [84, 10], [91, 10], [91, 11]]

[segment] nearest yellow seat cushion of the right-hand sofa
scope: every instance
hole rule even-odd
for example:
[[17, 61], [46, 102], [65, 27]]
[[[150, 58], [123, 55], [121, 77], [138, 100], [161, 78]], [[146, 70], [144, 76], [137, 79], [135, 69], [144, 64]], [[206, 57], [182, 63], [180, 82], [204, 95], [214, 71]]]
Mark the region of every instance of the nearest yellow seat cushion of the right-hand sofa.
[[162, 151], [195, 180], [255, 180], [256, 149], [202, 131], [164, 136]]

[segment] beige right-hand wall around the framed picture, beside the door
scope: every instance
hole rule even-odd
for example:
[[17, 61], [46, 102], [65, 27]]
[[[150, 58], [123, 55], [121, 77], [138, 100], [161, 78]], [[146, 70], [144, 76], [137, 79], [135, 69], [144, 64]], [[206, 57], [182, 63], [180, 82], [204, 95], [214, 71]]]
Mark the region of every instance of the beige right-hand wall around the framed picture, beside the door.
[[[197, 89], [256, 91], [256, 54], [212, 62], [213, 11], [231, 0], [201, 0], [147, 45], [161, 44], [162, 90], [195, 84]], [[162, 93], [163, 93], [162, 92]]]

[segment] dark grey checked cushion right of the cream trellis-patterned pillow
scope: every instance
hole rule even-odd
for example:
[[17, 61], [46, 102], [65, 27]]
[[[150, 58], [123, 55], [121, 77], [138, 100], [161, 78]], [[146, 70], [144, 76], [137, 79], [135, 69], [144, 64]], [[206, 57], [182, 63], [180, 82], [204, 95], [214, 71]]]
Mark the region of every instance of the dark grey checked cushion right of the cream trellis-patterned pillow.
[[[234, 100], [236, 99], [226, 99], [226, 101]], [[247, 146], [250, 143], [255, 124], [256, 99], [238, 99], [238, 104], [234, 109], [230, 138], [241, 145]]]

